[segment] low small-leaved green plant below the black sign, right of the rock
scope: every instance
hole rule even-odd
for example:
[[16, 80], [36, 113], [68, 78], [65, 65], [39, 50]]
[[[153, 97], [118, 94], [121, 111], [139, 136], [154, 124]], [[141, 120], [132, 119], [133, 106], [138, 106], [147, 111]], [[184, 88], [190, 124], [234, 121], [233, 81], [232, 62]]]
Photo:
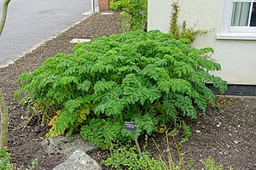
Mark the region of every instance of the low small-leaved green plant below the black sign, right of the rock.
[[102, 163], [116, 169], [163, 169], [161, 162], [152, 158], [148, 151], [137, 154], [135, 146], [110, 147], [110, 155]]

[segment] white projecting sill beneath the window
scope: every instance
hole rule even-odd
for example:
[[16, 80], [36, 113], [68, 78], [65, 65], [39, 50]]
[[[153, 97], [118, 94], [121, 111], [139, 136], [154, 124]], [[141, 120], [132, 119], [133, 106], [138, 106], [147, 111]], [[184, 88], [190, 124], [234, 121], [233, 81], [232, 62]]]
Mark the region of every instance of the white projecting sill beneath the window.
[[256, 33], [221, 33], [218, 40], [256, 40]]

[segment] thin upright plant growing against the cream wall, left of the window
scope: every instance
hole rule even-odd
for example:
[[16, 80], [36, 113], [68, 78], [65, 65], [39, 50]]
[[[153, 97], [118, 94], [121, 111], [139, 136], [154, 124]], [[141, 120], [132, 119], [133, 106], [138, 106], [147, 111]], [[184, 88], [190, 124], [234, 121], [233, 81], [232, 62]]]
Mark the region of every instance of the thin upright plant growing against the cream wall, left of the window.
[[180, 26], [178, 24], [178, 11], [179, 6], [177, 2], [172, 3], [172, 17], [171, 17], [171, 26], [170, 32], [172, 33], [172, 37], [175, 39], [180, 38], [188, 38], [191, 42], [195, 40], [195, 37], [201, 34], [206, 34], [207, 32], [213, 31], [213, 29], [209, 30], [195, 30], [194, 27], [187, 27], [186, 21], [183, 21], [183, 24]]

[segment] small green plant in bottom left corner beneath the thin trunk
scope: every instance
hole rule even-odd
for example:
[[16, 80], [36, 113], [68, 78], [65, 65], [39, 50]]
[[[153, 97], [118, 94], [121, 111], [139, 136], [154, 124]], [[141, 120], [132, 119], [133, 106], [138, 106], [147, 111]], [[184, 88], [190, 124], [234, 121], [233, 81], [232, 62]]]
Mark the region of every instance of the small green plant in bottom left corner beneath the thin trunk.
[[0, 147], [0, 169], [12, 170], [13, 164], [10, 162], [11, 157], [7, 148]]

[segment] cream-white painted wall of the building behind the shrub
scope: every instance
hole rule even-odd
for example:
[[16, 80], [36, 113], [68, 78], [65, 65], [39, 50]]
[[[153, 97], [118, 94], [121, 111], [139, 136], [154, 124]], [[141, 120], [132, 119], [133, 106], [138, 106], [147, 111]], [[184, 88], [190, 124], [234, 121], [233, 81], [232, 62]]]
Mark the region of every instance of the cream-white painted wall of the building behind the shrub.
[[[168, 32], [173, 0], [148, 0], [148, 31]], [[214, 73], [230, 84], [256, 85], [256, 41], [219, 40], [224, 0], [179, 0], [178, 20], [187, 21], [195, 29], [215, 30], [195, 39], [196, 48], [211, 47], [213, 58], [222, 65], [222, 71]]]

